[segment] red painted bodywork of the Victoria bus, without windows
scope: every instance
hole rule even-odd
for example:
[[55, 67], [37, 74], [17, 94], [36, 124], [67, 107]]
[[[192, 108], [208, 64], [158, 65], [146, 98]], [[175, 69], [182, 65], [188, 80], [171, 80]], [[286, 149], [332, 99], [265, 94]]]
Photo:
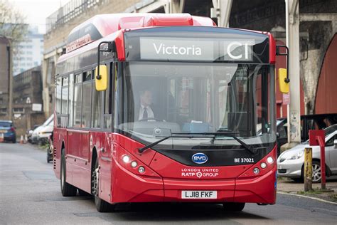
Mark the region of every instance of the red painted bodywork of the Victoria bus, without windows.
[[[125, 61], [124, 32], [153, 26], [215, 26], [205, 17], [189, 14], [115, 14], [90, 19], [87, 23], [100, 24], [97, 30], [103, 38], [92, 40], [80, 48], [60, 56], [59, 63], [97, 48], [101, 41], [115, 41], [119, 61]], [[106, 26], [105, 26], [106, 25]], [[72, 31], [72, 32], [73, 32]], [[257, 32], [257, 31], [255, 31]], [[275, 63], [275, 41], [269, 36], [269, 63]], [[56, 118], [56, 115], [55, 115]], [[55, 122], [56, 125], [56, 122]], [[60, 179], [60, 152], [65, 151], [66, 182], [91, 193], [92, 157], [99, 160], [99, 197], [109, 203], [118, 202], [256, 202], [274, 204], [276, 201], [277, 147], [260, 162], [226, 167], [190, 167], [161, 155], [154, 150], [139, 154], [144, 147], [136, 140], [113, 132], [90, 129], [54, 128], [54, 172]], [[122, 156], [137, 160], [146, 170], [123, 164]], [[261, 162], [273, 157], [265, 169]], [[258, 167], [260, 174], [254, 174]], [[216, 190], [217, 199], [182, 199], [183, 190]]]

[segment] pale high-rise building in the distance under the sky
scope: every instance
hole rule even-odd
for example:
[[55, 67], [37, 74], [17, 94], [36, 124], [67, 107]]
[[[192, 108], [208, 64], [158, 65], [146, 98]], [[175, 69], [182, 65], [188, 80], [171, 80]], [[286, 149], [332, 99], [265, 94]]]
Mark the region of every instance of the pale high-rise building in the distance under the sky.
[[28, 69], [40, 66], [43, 57], [43, 34], [37, 26], [30, 26], [23, 41], [17, 44], [13, 57], [13, 73], [18, 75]]

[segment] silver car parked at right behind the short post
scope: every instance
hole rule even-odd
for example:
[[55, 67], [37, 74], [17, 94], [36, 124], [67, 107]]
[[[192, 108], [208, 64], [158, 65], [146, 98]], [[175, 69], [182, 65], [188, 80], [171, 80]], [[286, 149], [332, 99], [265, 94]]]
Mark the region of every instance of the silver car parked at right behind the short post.
[[[325, 130], [326, 142], [326, 175], [337, 174], [337, 125], [327, 127]], [[277, 159], [277, 172], [279, 177], [289, 177], [294, 180], [303, 180], [304, 148], [312, 148], [313, 182], [321, 182], [321, 153], [319, 146], [310, 146], [309, 140], [284, 151]]]

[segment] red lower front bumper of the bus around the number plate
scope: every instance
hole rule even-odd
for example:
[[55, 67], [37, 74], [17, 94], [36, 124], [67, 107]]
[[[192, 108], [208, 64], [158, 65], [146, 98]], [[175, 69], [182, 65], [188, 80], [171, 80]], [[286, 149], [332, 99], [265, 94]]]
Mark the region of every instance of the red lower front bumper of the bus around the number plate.
[[[119, 202], [254, 202], [276, 201], [276, 167], [260, 177], [235, 179], [169, 179], [143, 177], [129, 172], [120, 164], [112, 184], [112, 203]], [[217, 191], [217, 199], [182, 199], [182, 191]]]

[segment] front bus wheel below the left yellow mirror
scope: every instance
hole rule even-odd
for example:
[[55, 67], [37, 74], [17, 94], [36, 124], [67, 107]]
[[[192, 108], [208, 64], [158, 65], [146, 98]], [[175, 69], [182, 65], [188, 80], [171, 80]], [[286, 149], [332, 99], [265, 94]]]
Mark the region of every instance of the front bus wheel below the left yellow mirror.
[[105, 202], [103, 199], [98, 197], [98, 193], [100, 192], [99, 187], [99, 168], [98, 168], [98, 157], [96, 158], [95, 167], [92, 170], [92, 194], [95, 197], [95, 206], [97, 211], [99, 212], [109, 212], [114, 210], [114, 205], [109, 204], [109, 202]]

